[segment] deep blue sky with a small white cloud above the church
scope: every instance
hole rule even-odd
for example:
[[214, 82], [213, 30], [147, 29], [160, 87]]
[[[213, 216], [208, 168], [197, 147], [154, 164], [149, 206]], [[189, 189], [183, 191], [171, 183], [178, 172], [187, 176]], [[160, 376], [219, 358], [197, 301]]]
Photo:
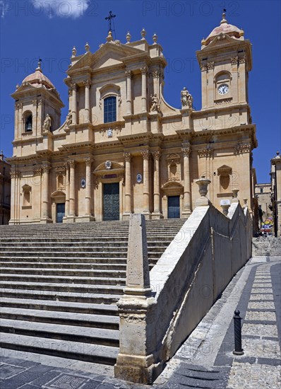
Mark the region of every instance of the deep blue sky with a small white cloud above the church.
[[[194, 105], [201, 109], [201, 71], [196, 50], [221, 20], [243, 28], [253, 45], [253, 69], [249, 75], [249, 103], [257, 127], [258, 149], [253, 166], [258, 182], [269, 182], [270, 158], [281, 149], [280, 137], [280, 1], [92, 1], [92, 0], [0, 0], [1, 23], [1, 132], [0, 149], [12, 156], [13, 110], [11, 93], [16, 84], [35, 71], [37, 59], [67, 105], [63, 82], [73, 45], [78, 54], [89, 42], [95, 52], [107, 36], [109, 11], [116, 14], [116, 39], [126, 42], [140, 38], [147, 30], [148, 42], [154, 33], [168, 61], [165, 98], [175, 107], [186, 86]], [[62, 120], [67, 107], [62, 111]]]

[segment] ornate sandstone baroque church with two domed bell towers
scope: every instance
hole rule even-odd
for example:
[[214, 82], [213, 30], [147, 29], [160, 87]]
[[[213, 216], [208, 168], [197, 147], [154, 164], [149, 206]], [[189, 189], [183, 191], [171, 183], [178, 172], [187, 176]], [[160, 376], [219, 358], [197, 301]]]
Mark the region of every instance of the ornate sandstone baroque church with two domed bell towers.
[[254, 211], [256, 148], [248, 99], [251, 43], [227, 22], [201, 41], [202, 108], [179, 91], [181, 109], [164, 98], [165, 52], [143, 29], [140, 39], [107, 42], [92, 53], [73, 47], [64, 80], [68, 115], [40, 63], [17, 86], [11, 163], [11, 220], [67, 223], [188, 218], [196, 180], [221, 209], [234, 193]]

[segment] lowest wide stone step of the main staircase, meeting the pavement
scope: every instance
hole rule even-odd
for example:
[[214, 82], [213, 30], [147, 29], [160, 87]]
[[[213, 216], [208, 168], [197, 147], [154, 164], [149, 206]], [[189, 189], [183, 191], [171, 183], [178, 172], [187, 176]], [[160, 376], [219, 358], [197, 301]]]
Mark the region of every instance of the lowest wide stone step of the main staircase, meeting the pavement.
[[80, 342], [65, 342], [57, 339], [3, 333], [0, 344], [3, 349], [20, 350], [37, 354], [61, 356], [68, 359], [89, 361], [95, 364], [116, 364], [119, 353], [117, 347], [100, 344], [85, 344]]

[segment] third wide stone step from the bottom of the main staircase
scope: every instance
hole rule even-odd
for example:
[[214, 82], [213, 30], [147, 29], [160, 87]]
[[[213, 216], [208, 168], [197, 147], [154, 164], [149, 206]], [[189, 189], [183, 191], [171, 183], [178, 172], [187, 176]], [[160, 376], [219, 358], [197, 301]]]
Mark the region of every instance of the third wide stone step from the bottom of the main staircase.
[[0, 318], [28, 322], [75, 325], [83, 327], [119, 330], [119, 317], [113, 315], [90, 315], [88, 313], [59, 312], [26, 308], [1, 307]]

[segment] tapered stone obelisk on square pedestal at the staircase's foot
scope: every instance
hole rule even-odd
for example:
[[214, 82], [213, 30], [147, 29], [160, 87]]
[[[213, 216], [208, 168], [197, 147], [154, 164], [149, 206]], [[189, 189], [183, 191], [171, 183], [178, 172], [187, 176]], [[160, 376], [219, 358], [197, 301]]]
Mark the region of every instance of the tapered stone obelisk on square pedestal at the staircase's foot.
[[114, 366], [116, 378], [153, 383], [162, 371], [155, 363], [155, 298], [150, 288], [145, 216], [131, 214], [124, 296], [117, 303], [120, 347]]

